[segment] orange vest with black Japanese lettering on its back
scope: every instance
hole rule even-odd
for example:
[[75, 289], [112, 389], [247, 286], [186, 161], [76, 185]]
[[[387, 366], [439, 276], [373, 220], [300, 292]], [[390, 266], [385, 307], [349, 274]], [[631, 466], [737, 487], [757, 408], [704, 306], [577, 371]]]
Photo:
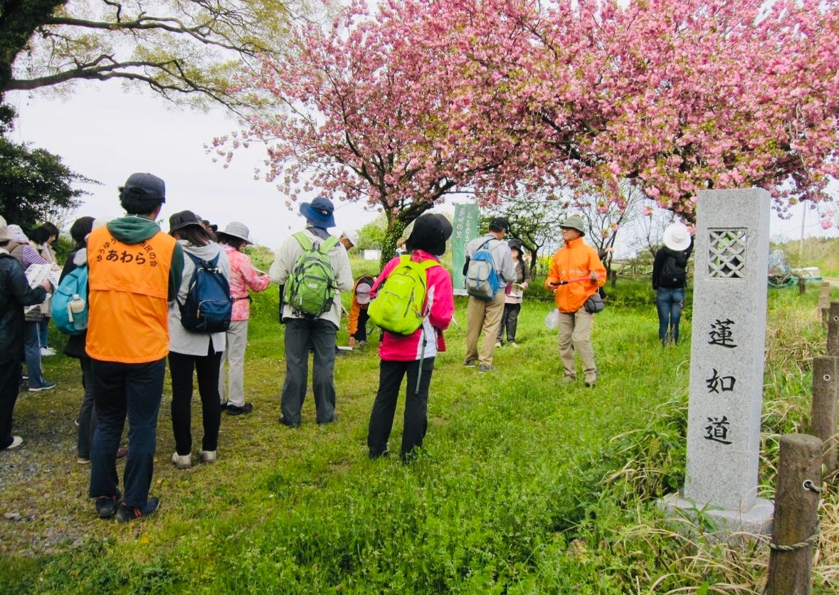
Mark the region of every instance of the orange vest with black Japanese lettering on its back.
[[87, 240], [86, 352], [105, 362], [149, 363], [169, 353], [169, 269], [175, 238], [122, 243], [107, 226]]

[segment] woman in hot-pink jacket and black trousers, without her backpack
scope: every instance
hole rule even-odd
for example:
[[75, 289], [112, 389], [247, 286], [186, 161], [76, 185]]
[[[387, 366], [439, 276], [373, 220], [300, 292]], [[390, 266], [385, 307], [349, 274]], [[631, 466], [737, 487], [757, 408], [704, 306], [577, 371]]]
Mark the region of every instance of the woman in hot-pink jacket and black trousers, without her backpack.
[[[414, 222], [414, 231], [405, 247], [415, 262], [435, 260], [446, 252], [446, 240], [451, 236], [451, 223], [442, 215], [426, 214]], [[388, 274], [399, 265], [399, 257], [385, 265], [373, 284], [373, 295], [388, 279]], [[438, 351], [446, 351], [443, 331], [455, 313], [455, 297], [451, 290], [451, 275], [442, 265], [432, 266], [426, 273], [425, 311], [422, 326], [409, 336], [383, 331], [378, 347], [378, 393], [370, 413], [367, 447], [370, 458], [388, 455], [388, 439], [393, 428], [393, 415], [399, 399], [399, 386], [407, 375], [405, 389], [404, 429], [402, 431], [402, 459], [412, 457], [422, 446], [428, 427], [428, 390], [434, 359]]]

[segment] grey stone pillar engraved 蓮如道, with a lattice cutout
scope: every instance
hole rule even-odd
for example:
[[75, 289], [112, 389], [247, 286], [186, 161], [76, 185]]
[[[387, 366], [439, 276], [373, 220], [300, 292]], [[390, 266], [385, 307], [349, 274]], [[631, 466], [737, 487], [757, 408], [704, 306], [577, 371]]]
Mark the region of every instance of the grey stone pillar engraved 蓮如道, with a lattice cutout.
[[774, 506], [758, 498], [758, 455], [769, 192], [700, 191], [696, 206], [687, 468], [665, 506], [768, 534]]

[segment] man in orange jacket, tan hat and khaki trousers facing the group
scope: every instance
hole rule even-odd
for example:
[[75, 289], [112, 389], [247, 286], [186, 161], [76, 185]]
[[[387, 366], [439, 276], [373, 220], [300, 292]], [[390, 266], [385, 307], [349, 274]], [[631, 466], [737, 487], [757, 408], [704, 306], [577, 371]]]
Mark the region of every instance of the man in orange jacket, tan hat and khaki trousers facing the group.
[[580, 217], [568, 217], [560, 225], [565, 245], [550, 258], [545, 289], [554, 291], [560, 311], [560, 357], [565, 382], [576, 380], [574, 352], [580, 354], [586, 386], [597, 382], [597, 366], [591, 348], [591, 321], [594, 315], [583, 304], [606, 282], [606, 268], [597, 251], [583, 242], [586, 235]]

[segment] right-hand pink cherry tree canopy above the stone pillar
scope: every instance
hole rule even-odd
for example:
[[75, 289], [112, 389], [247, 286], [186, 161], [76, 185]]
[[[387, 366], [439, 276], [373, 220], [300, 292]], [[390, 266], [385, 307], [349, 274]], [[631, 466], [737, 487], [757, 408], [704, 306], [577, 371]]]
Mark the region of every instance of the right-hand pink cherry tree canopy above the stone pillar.
[[[687, 222], [701, 189], [762, 186], [782, 211], [826, 198], [836, 0], [578, 0], [538, 18], [503, 4], [492, 9], [531, 34], [498, 110], [529, 137], [517, 165], [531, 184], [560, 175], [623, 206], [618, 182], [633, 180]], [[490, 185], [522, 179], [491, 174]]]

